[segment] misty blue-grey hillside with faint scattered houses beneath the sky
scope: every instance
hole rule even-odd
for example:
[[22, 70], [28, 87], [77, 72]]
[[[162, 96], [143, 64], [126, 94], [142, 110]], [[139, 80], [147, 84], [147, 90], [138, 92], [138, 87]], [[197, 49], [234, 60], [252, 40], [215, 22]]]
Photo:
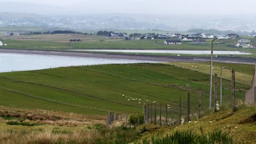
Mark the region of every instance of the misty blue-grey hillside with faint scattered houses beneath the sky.
[[[71, 29], [159, 29], [187, 31], [188, 29], [218, 29], [248, 31], [256, 29], [253, 14], [140, 14], [144, 11], [124, 11], [123, 14], [86, 13], [72, 7], [0, 2], [0, 26], [43, 26]], [[97, 8], [95, 8], [97, 9]], [[71, 13], [72, 11], [72, 13]], [[8, 13], [7, 13], [8, 12]], [[136, 14], [132, 14], [136, 13]]]

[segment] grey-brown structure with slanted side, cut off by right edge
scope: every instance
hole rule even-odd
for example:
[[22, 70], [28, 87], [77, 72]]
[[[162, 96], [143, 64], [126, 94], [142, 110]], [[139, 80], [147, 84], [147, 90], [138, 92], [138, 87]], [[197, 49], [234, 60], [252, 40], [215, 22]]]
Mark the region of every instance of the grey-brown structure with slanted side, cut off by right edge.
[[252, 87], [246, 93], [245, 102], [247, 104], [255, 105], [256, 104], [256, 65], [254, 69], [254, 75], [252, 80]]

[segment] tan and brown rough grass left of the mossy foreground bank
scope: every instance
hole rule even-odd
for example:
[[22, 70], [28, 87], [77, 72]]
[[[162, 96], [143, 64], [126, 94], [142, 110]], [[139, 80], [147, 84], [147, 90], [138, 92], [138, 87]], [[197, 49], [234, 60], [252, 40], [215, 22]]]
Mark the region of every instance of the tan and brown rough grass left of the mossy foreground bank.
[[106, 127], [106, 116], [0, 106], [0, 143], [129, 143], [135, 128]]

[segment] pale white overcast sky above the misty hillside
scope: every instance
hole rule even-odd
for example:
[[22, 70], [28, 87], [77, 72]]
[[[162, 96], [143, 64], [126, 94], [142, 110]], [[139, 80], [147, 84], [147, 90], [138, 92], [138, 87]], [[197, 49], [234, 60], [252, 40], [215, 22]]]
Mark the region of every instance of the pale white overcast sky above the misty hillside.
[[[201, 13], [201, 14], [256, 14], [255, 0], [11, 0], [12, 2], [25, 2], [47, 4], [56, 7], [59, 13]], [[10, 0], [0, 0], [0, 3]], [[17, 3], [18, 4], [18, 3]], [[20, 3], [19, 3], [20, 4]], [[15, 5], [15, 3], [13, 3]], [[17, 6], [17, 5], [16, 5]], [[18, 5], [19, 6], [19, 5]], [[51, 8], [54, 8], [51, 7]], [[0, 9], [1, 11], [1, 9]], [[13, 11], [11, 11], [13, 12]], [[16, 9], [22, 12], [22, 9]], [[26, 11], [25, 11], [26, 12]], [[40, 13], [49, 12], [40, 11]], [[35, 11], [34, 13], [38, 13]], [[56, 12], [57, 13], [57, 12]]]

